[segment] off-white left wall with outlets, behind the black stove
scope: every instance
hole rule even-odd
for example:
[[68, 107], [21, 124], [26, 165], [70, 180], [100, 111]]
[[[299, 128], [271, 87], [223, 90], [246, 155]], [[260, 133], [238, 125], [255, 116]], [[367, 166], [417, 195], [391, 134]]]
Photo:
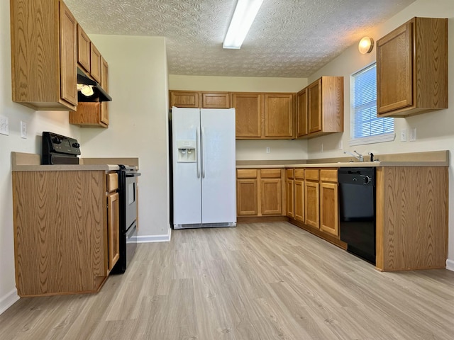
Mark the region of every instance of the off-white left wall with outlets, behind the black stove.
[[[67, 112], [33, 111], [11, 101], [11, 40], [9, 1], [0, 1], [0, 115], [9, 118], [9, 135], [0, 135], [0, 313], [18, 297], [14, 280], [13, 198], [11, 152], [41, 153], [43, 131], [79, 139], [79, 128], [69, 125]], [[27, 138], [20, 134], [21, 120]]]

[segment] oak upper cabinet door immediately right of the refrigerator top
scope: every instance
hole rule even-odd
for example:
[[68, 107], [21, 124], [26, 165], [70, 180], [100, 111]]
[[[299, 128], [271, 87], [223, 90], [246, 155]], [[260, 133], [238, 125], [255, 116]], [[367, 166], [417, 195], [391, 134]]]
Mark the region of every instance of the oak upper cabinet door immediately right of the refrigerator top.
[[236, 138], [262, 137], [262, 95], [231, 94], [231, 104], [235, 108]]

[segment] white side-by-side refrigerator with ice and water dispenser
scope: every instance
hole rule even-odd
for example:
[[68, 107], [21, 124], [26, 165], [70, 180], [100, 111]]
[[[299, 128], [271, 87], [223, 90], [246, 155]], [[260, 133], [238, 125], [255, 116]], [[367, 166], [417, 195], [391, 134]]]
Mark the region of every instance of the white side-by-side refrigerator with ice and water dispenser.
[[172, 108], [173, 227], [236, 226], [235, 109]]

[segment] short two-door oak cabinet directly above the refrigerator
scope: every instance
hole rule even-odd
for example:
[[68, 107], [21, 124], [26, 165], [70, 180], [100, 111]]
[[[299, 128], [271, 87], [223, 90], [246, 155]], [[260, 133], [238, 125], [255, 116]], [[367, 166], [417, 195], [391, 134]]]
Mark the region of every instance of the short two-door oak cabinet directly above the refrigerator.
[[177, 108], [230, 108], [228, 92], [169, 91], [170, 107]]

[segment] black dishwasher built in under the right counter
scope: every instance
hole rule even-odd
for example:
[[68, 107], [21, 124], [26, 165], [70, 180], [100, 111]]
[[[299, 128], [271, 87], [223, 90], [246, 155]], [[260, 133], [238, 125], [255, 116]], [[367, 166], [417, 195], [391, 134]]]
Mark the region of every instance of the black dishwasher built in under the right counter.
[[341, 240], [375, 264], [375, 168], [338, 170]]

